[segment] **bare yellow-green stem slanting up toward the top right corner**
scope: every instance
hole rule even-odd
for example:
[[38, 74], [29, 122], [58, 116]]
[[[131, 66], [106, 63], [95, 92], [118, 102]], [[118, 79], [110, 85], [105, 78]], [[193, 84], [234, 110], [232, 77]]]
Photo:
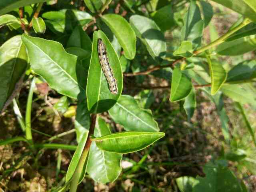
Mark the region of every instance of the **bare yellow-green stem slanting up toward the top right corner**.
[[233, 28], [232, 30], [228, 31], [226, 34], [224, 34], [223, 36], [221, 36], [220, 38], [216, 39], [214, 42], [211, 42], [210, 44], [199, 48], [198, 50], [194, 51], [194, 55], [198, 55], [214, 46], [217, 46], [219, 44], [221, 44], [222, 42], [224, 42], [224, 40], [226, 40], [230, 35], [234, 34], [234, 32], [238, 31], [239, 29], [241, 29], [242, 27], [248, 25], [251, 22], [250, 19], [245, 18], [243, 20], [242, 23], [240, 23], [238, 26], [236, 26], [235, 28]]

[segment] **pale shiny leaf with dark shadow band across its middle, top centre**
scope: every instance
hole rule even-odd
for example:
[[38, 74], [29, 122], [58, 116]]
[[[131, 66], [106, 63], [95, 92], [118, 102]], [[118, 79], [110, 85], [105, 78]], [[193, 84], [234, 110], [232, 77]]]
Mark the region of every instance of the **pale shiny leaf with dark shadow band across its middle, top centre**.
[[146, 45], [152, 58], [165, 56], [166, 40], [153, 20], [144, 16], [133, 15], [130, 17], [130, 24], [136, 36]]

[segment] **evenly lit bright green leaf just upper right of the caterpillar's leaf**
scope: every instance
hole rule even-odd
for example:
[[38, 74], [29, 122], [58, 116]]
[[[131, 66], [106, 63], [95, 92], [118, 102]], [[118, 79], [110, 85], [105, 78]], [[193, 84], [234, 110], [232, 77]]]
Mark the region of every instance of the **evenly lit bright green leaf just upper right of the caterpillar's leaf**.
[[102, 20], [118, 39], [124, 49], [124, 56], [130, 60], [133, 59], [136, 54], [136, 35], [130, 24], [118, 14], [105, 14]]

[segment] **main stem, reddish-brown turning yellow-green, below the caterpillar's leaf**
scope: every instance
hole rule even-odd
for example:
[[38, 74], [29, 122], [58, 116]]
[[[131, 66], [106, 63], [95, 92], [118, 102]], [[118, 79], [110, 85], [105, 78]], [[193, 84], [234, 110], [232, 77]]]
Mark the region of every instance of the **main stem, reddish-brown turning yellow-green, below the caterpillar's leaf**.
[[89, 133], [88, 133], [88, 138], [86, 140], [86, 144], [84, 146], [84, 150], [82, 152], [82, 155], [79, 159], [78, 165], [76, 167], [76, 170], [74, 172], [73, 178], [72, 178], [72, 182], [71, 182], [71, 186], [70, 186], [70, 192], [76, 192], [77, 186], [78, 186], [78, 182], [84, 167], [84, 164], [86, 162], [86, 158], [92, 143], [92, 140], [90, 139], [90, 135], [92, 135], [94, 133], [94, 128], [96, 125], [96, 119], [97, 119], [97, 114], [92, 114], [91, 115], [91, 124], [90, 124], [90, 129], [89, 129]]

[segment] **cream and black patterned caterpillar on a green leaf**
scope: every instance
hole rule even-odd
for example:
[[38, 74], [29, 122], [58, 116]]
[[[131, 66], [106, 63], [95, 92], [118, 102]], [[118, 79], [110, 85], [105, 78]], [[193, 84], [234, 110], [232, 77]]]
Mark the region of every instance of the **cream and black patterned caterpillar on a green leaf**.
[[117, 94], [118, 88], [116, 79], [114, 77], [113, 70], [108, 62], [106, 46], [101, 38], [98, 39], [98, 55], [100, 60], [100, 66], [109, 85], [109, 90], [112, 94]]

